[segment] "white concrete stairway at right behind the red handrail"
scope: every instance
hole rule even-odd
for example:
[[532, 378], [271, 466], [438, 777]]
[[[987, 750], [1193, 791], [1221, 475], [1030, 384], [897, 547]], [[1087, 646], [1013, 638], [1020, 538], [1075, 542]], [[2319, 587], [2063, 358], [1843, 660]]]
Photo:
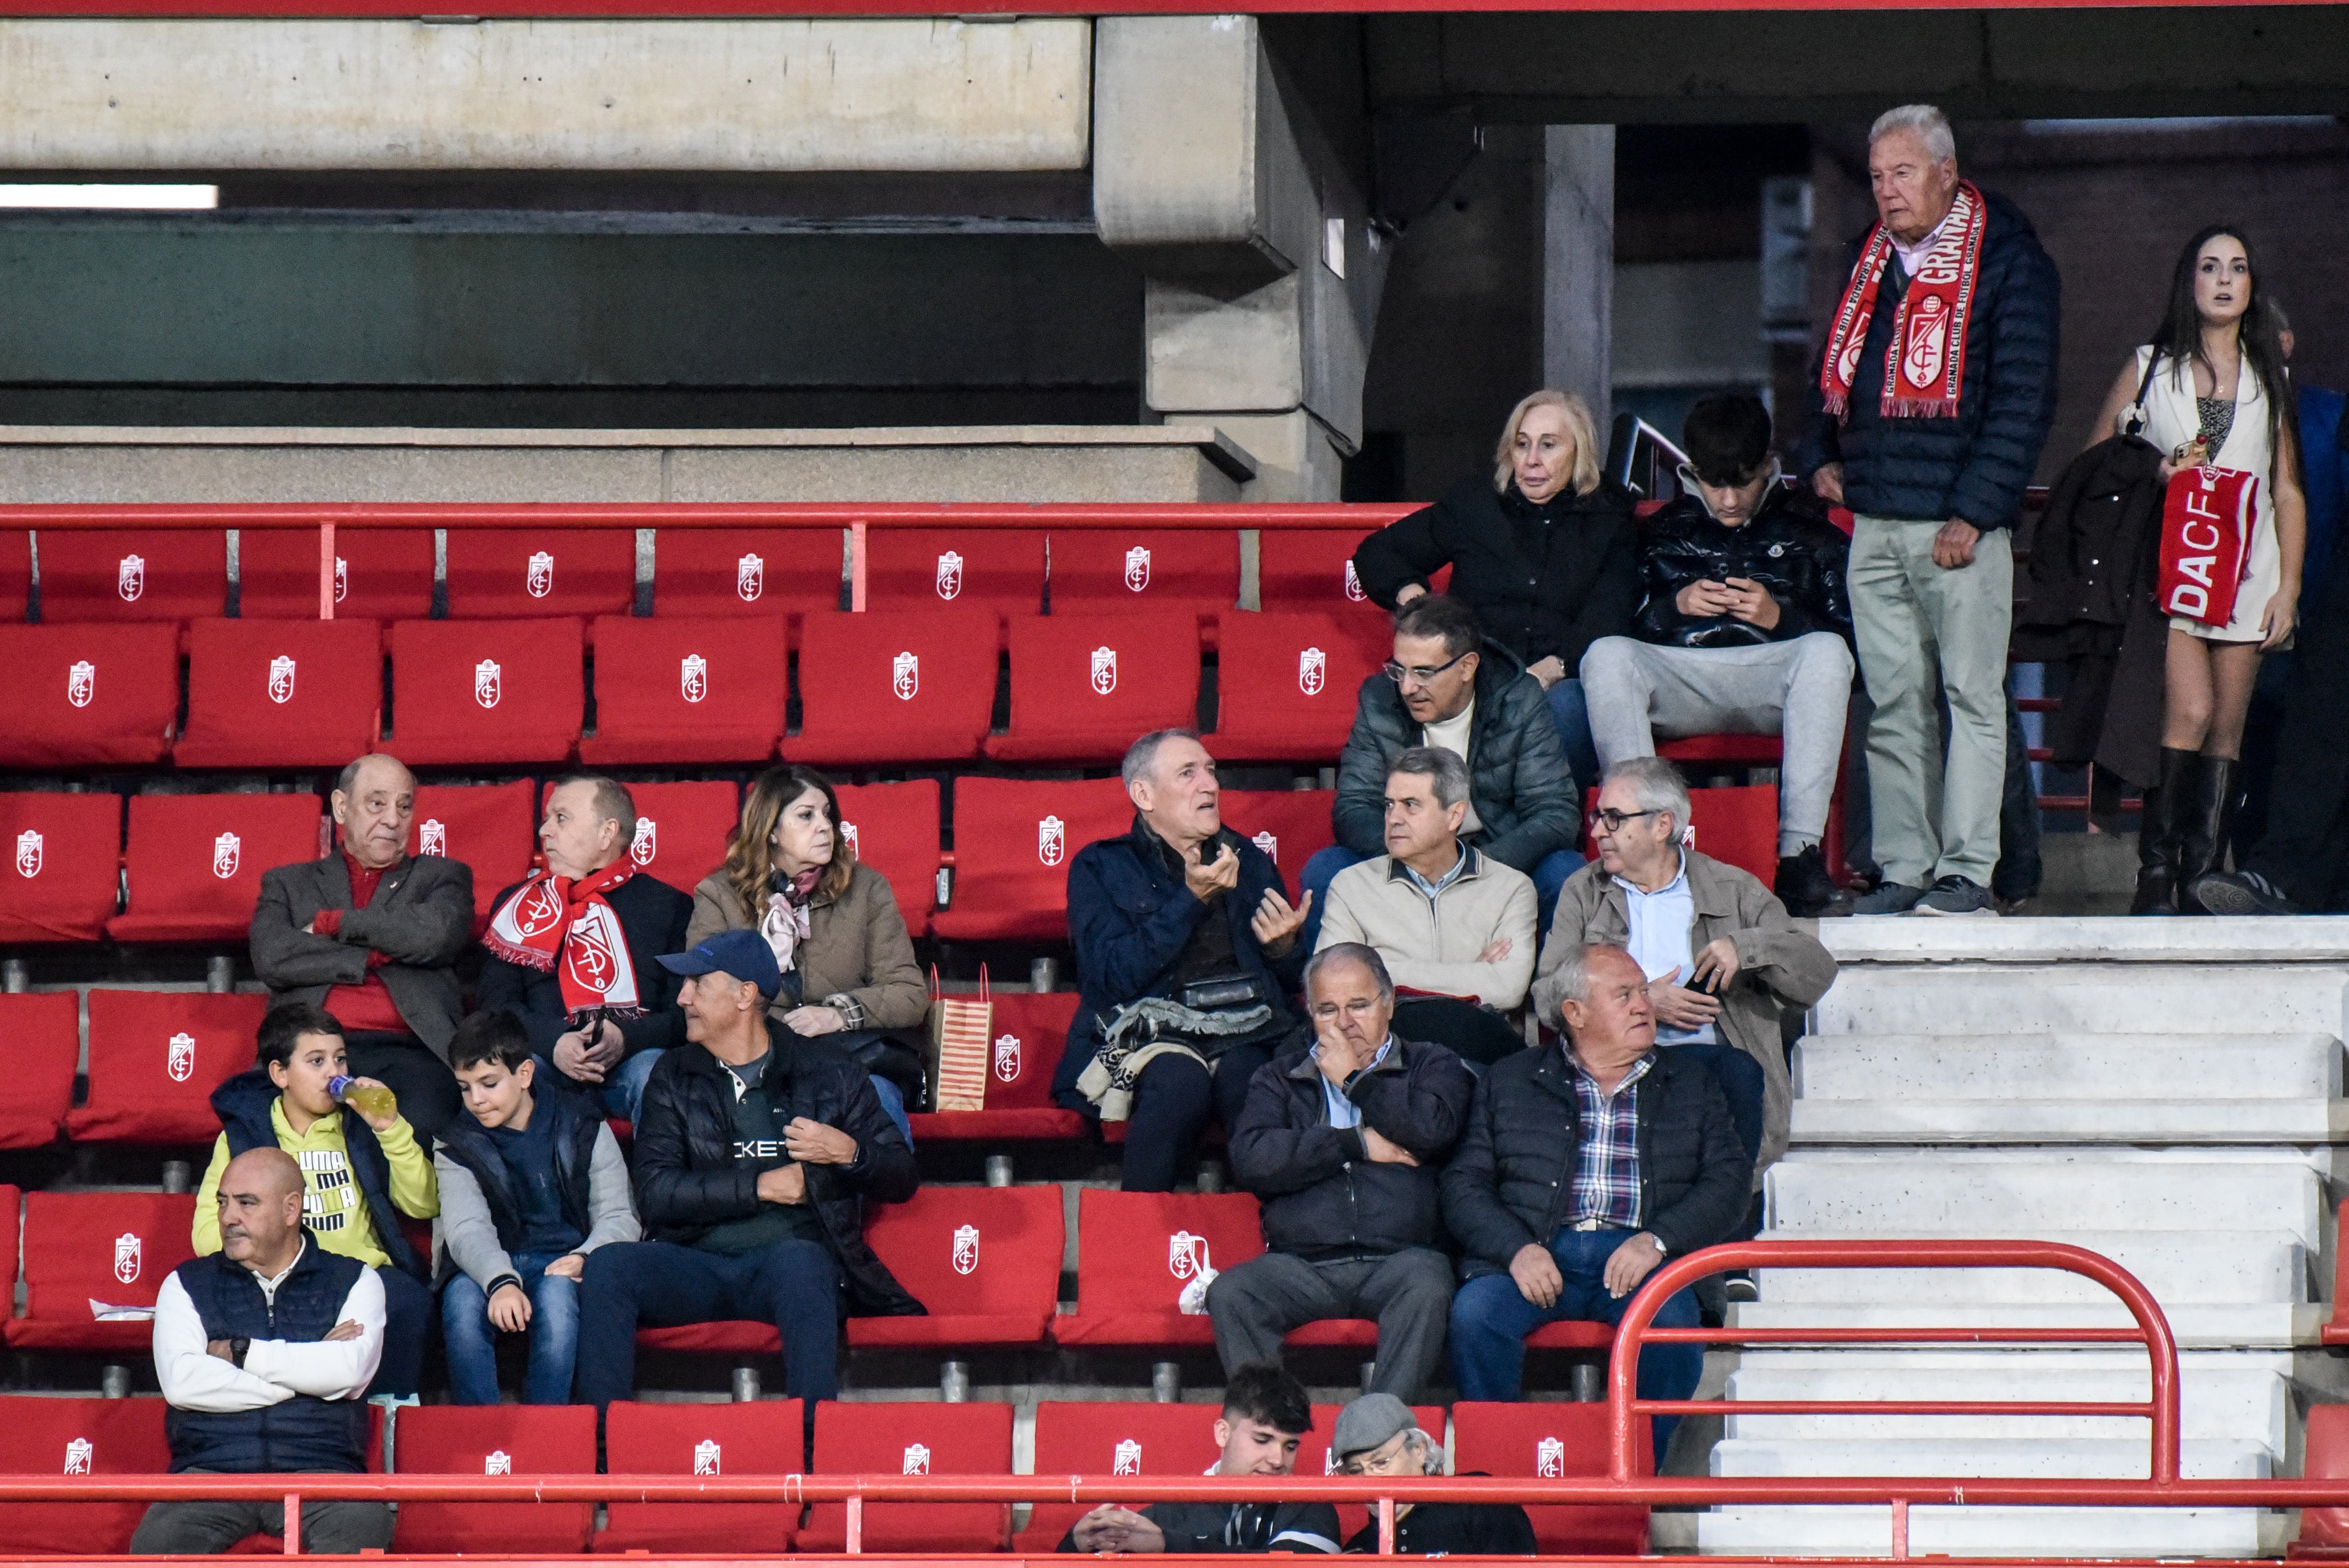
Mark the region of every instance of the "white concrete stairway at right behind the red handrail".
[[[2100, 1251], [2182, 1345], [2185, 1472], [2297, 1472], [2344, 1397], [2330, 1317], [2349, 920], [1832, 920], [1844, 965], [1795, 1054], [1766, 1237], [2041, 1237]], [[2121, 1326], [2041, 1270], [1778, 1270], [1750, 1329]], [[2145, 1399], [2133, 1350], [1816, 1347], [1738, 1357], [1731, 1399]], [[2126, 1418], [1731, 1415], [1712, 1472], [2142, 1476]], [[2253, 1509], [1914, 1509], [1910, 1549], [2276, 1552]], [[1889, 1509], [1724, 1507], [1703, 1552], [1882, 1554]]]

